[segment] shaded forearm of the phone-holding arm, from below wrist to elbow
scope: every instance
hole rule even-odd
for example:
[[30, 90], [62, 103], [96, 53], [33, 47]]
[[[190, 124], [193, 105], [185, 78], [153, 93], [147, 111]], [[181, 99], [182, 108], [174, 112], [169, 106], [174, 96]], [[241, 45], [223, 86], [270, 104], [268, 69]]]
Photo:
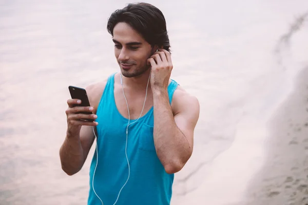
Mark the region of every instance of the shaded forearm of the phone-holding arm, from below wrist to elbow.
[[79, 136], [66, 136], [60, 148], [60, 159], [62, 169], [68, 175], [73, 175], [81, 170], [84, 154]]

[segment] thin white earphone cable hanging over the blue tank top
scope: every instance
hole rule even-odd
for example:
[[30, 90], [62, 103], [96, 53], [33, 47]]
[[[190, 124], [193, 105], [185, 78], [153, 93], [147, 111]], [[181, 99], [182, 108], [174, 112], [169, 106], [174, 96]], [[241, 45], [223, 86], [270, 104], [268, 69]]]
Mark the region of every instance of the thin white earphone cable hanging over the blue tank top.
[[[150, 71], [149, 78], [148, 78], [147, 85], [146, 85], [145, 98], [144, 98], [144, 103], [143, 103], [143, 107], [142, 107], [141, 113], [140, 113], [138, 119], [130, 124], [130, 123], [129, 123], [129, 122], [130, 122], [129, 107], [128, 107], [127, 99], [126, 99], [126, 96], [125, 96], [125, 93], [124, 93], [123, 80], [122, 80], [122, 73], [120, 73], [122, 91], [123, 91], [123, 95], [124, 95], [124, 99], [125, 99], [126, 106], [127, 106], [127, 111], [128, 111], [128, 123], [127, 123], [127, 127], [126, 127], [126, 145], [125, 145], [125, 155], [126, 155], [127, 165], [128, 165], [128, 177], [127, 177], [127, 180], [126, 180], [126, 182], [124, 183], [123, 187], [120, 189], [119, 194], [118, 194], [118, 197], [117, 197], [117, 200], [115, 200], [115, 202], [113, 203], [113, 205], [114, 205], [115, 203], [118, 202], [118, 199], [119, 199], [119, 197], [120, 197], [120, 193], [122, 192], [123, 188], [125, 187], [126, 183], [127, 183], [128, 180], [129, 180], [129, 176], [130, 176], [130, 166], [129, 166], [129, 160], [128, 160], [128, 156], [127, 156], [128, 127], [129, 127], [130, 125], [134, 124], [135, 122], [137, 122], [137, 121], [140, 119], [140, 117], [141, 117], [141, 115], [142, 115], [142, 113], [143, 113], [143, 109], [144, 109], [145, 101], [146, 101], [146, 97], [147, 97], [147, 90], [148, 90], [148, 85], [149, 85], [149, 81], [150, 81], [150, 76], [151, 76], [151, 71]], [[95, 189], [94, 189], [94, 175], [95, 175], [95, 171], [96, 171], [96, 169], [97, 169], [98, 162], [99, 162], [99, 154], [98, 154], [98, 137], [97, 137], [97, 135], [95, 134], [94, 127], [93, 127], [93, 133], [94, 133], [94, 136], [95, 136], [95, 138], [96, 138], [97, 163], [96, 163], [96, 165], [95, 165], [95, 169], [94, 169], [94, 173], [93, 173], [93, 177], [92, 177], [92, 189], [93, 189], [95, 195], [101, 200], [102, 205], [104, 205], [102, 199], [98, 196], [98, 194], [95, 192]]]

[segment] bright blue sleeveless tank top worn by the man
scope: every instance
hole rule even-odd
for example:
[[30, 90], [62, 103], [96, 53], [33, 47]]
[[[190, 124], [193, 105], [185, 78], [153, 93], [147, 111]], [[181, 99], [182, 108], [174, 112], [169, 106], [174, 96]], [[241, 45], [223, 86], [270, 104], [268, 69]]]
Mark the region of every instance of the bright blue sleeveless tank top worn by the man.
[[[115, 74], [115, 73], [114, 73]], [[117, 109], [114, 100], [114, 74], [107, 80], [105, 90], [97, 109], [98, 147], [95, 149], [90, 166], [90, 190], [88, 205], [113, 205], [120, 189], [128, 177], [125, 155], [126, 127], [128, 119]], [[168, 86], [169, 102], [177, 89], [177, 82], [171, 80]], [[140, 105], [142, 106], [142, 105]], [[137, 119], [130, 120], [130, 123]], [[159, 160], [153, 141], [153, 107], [136, 123], [129, 126], [127, 157], [130, 177], [121, 191], [116, 205], [167, 205], [170, 204], [174, 174], [167, 174]]]

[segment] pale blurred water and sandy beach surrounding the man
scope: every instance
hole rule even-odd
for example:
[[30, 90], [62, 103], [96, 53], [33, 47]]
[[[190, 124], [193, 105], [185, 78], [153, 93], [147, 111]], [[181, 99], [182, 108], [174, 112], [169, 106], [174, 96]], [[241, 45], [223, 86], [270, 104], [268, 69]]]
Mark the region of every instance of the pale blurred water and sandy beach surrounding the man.
[[[308, 202], [308, 1], [145, 2], [201, 106], [171, 204]], [[1, 205], [86, 204], [94, 146], [79, 173], [60, 164], [68, 86], [119, 70], [106, 24], [127, 3], [0, 0]]]

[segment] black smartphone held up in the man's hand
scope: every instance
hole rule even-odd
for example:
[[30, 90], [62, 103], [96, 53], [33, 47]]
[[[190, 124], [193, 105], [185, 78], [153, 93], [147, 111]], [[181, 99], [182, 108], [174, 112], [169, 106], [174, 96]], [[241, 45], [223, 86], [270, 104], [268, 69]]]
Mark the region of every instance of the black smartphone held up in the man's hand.
[[[84, 88], [79, 88], [79, 87], [75, 87], [75, 86], [69, 86], [68, 90], [70, 92], [71, 98], [72, 99], [80, 99], [81, 100], [81, 104], [76, 104], [76, 106], [83, 106], [83, 107], [87, 107], [90, 106], [89, 103], [89, 98], [87, 95], [87, 92]], [[82, 114], [93, 114], [92, 112], [79, 112]], [[84, 121], [94, 121], [94, 119], [81, 119]]]

